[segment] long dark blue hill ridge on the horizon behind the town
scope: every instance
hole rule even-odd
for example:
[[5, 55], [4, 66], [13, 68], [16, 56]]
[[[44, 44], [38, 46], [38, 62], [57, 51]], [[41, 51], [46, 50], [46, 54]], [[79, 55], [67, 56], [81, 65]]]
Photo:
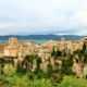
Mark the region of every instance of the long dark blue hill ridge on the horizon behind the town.
[[0, 36], [0, 40], [8, 40], [10, 37], [16, 37], [18, 40], [26, 40], [26, 39], [34, 39], [34, 40], [60, 40], [61, 37], [65, 37], [65, 40], [79, 40], [83, 37], [86, 36], [76, 36], [76, 35], [7, 35], [7, 36]]

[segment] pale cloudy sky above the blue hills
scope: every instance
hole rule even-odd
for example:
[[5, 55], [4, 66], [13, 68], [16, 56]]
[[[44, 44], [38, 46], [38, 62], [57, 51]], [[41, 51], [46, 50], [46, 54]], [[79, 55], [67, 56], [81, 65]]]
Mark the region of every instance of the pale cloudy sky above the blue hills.
[[0, 35], [87, 35], [87, 0], [0, 0]]

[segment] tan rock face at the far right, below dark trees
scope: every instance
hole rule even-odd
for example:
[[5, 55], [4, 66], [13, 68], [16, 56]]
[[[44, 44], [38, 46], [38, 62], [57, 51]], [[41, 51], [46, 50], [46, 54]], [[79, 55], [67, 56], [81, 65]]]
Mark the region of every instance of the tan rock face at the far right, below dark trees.
[[76, 55], [76, 58], [74, 58], [73, 60], [74, 63], [72, 66], [72, 71], [76, 73], [77, 77], [87, 77], [87, 63], [85, 64], [83, 59], [85, 58], [82, 57], [82, 61], [79, 61], [79, 58]]

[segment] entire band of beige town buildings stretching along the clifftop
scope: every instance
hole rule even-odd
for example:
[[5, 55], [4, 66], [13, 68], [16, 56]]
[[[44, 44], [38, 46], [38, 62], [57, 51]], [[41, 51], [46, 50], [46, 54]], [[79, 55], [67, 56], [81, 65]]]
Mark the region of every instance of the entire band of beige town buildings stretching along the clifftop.
[[66, 41], [62, 37], [60, 41], [49, 40], [38, 46], [32, 42], [18, 42], [16, 38], [11, 37], [8, 44], [0, 44], [0, 57], [24, 58], [26, 54], [38, 54], [44, 59], [48, 59], [53, 47], [55, 50], [73, 52], [82, 49], [84, 42], [87, 45], [87, 37], [76, 41]]

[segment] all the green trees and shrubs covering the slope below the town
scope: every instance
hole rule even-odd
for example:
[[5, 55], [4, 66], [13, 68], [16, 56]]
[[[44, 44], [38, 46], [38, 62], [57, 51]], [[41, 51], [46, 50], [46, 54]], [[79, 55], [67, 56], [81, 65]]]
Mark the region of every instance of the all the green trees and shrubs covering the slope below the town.
[[[78, 55], [78, 60], [76, 59], [78, 63], [87, 63], [85, 44], [82, 50], [76, 50], [72, 54], [64, 50], [55, 51], [53, 48], [51, 57], [54, 59], [54, 66], [49, 63], [46, 72], [40, 69], [42, 61], [37, 54], [26, 55], [24, 61], [17, 63], [16, 67], [13, 65], [13, 58], [8, 61], [0, 58], [0, 85], [2, 87], [87, 87], [87, 80], [77, 78], [72, 72], [75, 55]], [[83, 57], [84, 61], [82, 61]], [[62, 61], [61, 69], [55, 62], [59, 59]], [[35, 70], [33, 70], [33, 63], [37, 64]]]

